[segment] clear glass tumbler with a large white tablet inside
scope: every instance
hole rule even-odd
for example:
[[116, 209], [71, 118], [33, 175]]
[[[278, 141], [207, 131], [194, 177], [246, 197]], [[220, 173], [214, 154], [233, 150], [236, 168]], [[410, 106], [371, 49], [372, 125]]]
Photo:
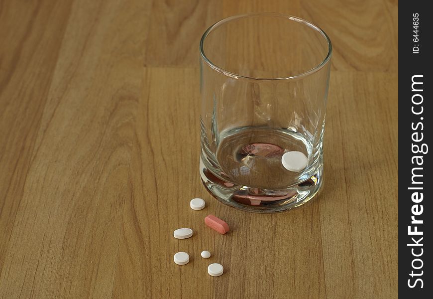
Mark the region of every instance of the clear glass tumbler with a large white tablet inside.
[[206, 30], [200, 174], [218, 200], [276, 212], [319, 191], [331, 53], [321, 28], [290, 15], [231, 16]]

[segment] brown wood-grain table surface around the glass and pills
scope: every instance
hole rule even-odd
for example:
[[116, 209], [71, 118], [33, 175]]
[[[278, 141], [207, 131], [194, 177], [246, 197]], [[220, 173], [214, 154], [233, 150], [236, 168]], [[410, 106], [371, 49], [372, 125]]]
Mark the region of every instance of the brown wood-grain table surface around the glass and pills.
[[[0, 6], [1, 298], [397, 298], [397, 0]], [[325, 186], [271, 215], [220, 204], [199, 176], [198, 42], [250, 11], [312, 20], [334, 46]]]

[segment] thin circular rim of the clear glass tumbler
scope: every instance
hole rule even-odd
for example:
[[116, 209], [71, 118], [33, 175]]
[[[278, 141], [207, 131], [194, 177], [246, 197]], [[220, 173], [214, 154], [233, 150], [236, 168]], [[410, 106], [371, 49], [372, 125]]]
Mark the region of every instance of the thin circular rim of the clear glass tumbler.
[[[292, 20], [292, 21], [296, 21], [299, 23], [302, 23], [304, 25], [309, 26], [310, 28], [312, 28], [313, 30], [318, 31], [324, 38], [325, 41], [328, 44], [328, 52], [326, 54], [325, 59], [322, 60], [321, 63], [319, 63], [317, 66], [315, 66], [312, 69], [309, 69], [303, 73], [300, 73], [298, 75], [294, 75], [294, 76], [289, 76], [289, 77], [278, 77], [278, 78], [257, 78], [257, 77], [248, 77], [248, 76], [243, 76], [240, 74], [236, 74], [236, 73], [232, 73], [229, 72], [227, 70], [224, 70], [223, 68], [217, 66], [216, 64], [214, 64], [205, 54], [205, 50], [204, 50], [204, 43], [205, 43], [205, 39], [208, 37], [209, 33], [211, 33], [214, 29], [218, 28], [219, 26], [221, 26], [222, 24], [235, 20], [235, 19], [239, 19], [239, 18], [244, 18], [244, 17], [249, 17], [249, 16], [273, 16], [273, 17], [282, 17], [282, 18], [286, 18], [288, 20]], [[329, 36], [325, 33], [325, 31], [320, 28], [318, 25], [309, 22], [303, 18], [297, 17], [297, 16], [293, 16], [293, 15], [289, 15], [289, 14], [283, 14], [283, 13], [276, 13], [276, 12], [254, 12], [254, 13], [245, 13], [245, 14], [238, 14], [238, 15], [233, 15], [233, 16], [229, 16], [226, 18], [223, 18], [222, 20], [217, 21], [215, 24], [213, 24], [212, 26], [210, 26], [205, 33], [203, 33], [202, 38], [200, 39], [200, 56], [203, 58], [203, 60], [215, 71], [217, 71], [218, 73], [221, 73], [227, 77], [233, 78], [233, 79], [247, 79], [247, 80], [262, 80], [262, 81], [275, 81], [275, 80], [297, 80], [300, 79], [302, 77], [311, 75], [313, 73], [316, 73], [317, 71], [319, 71], [322, 67], [325, 66], [325, 64], [330, 60], [331, 56], [332, 56], [332, 43], [329, 39]]]

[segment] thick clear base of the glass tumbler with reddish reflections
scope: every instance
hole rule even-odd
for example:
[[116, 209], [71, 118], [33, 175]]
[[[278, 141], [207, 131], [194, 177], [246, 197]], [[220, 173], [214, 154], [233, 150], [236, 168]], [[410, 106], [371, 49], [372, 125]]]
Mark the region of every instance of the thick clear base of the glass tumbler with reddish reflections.
[[323, 161], [303, 182], [284, 189], [269, 190], [236, 185], [206, 167], [200, 157], [200, 176], [206, 189], [220, 202], [248, 212], [274, 213], [298, 207], [312, 199], [323, 181]]

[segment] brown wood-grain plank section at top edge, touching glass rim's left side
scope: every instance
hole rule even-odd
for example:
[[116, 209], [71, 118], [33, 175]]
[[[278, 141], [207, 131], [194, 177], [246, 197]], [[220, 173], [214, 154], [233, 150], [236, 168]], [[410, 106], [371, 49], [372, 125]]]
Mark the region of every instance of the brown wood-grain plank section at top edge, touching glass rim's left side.
[[220, 0], [153, 1], [144, 65], [197, 66], [200, 38], [220, 19]]

